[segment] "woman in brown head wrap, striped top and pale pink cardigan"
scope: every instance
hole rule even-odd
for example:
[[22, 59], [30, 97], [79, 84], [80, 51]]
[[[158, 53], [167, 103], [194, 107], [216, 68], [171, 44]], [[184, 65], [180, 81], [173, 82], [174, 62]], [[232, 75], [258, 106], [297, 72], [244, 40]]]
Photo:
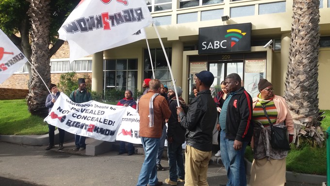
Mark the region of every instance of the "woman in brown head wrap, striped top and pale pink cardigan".
[[[271, 147], [270, 119], [274, 127], [285, 125], [289, 142], [293, 140], [294, 126], [285, 99], [274, 95], [273, 85], [266, 79], [258, 84], [260, 93], [253, 98], [253, 148], [250, 186], [284, 186], [285, 160], [288, 151]], [[264, 110], [265, 109], [265, 110]], [[266, 116], [267, 113], [268, 117]]]

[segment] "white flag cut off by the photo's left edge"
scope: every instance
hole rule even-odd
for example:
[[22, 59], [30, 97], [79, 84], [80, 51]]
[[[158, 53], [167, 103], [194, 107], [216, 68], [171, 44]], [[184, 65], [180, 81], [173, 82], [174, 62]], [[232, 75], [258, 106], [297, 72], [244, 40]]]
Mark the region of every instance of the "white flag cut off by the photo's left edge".
[[28, 59], [0, 29], [0, 84], [21, 68]]

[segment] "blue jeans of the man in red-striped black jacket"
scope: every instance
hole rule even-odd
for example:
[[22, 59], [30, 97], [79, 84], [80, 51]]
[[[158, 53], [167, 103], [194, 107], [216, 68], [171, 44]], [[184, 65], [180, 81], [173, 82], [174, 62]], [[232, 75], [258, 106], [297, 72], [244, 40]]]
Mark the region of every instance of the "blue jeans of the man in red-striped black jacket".
[[233, 148], [234, 140], [226, 138], [226, 133], [220, 132], [221, 160], [227, 170], [227, 186], [246, 186], [247, 177], [244, 165], [244, 153], [247, 143], [243, 141], [242, 149], [235, 151]]

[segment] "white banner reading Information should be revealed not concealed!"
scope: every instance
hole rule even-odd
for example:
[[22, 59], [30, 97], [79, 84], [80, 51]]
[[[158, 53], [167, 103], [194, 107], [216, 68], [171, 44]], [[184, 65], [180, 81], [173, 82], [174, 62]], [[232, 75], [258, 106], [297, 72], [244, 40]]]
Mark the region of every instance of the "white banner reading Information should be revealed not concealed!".
[[132, 107], [97, 101], [75, 103], [61, 93], [44, 121], [72, 134], [115, 141], [122, 117], [132, 114], [136, 114]]

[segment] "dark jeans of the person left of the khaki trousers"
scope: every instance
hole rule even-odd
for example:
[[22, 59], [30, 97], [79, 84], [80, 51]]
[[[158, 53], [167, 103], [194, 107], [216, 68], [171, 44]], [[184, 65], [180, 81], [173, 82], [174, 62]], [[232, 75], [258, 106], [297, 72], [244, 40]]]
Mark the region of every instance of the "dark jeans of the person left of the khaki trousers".
[[169, 165], [169, 179], [173, 182], [177, 182], [178, 177], [184, 180], [182, 144], [168, 143], [167, 156]]

